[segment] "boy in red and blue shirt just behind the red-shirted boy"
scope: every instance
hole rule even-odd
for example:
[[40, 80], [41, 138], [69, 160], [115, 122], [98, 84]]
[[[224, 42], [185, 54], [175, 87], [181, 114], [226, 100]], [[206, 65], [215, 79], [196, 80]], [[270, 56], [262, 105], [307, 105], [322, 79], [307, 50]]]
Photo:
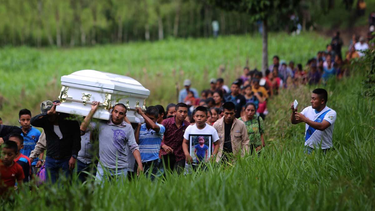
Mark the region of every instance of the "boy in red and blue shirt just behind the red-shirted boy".
[[23, 181], [28, 182], [30, 181], [31, 163], [28, 157], [21, 153], [21, 150], [24, 148], [24, 139], [20, 134], [12, 134], [9, 136], [9, 140], [17, 144], [17, 154], [14, 161], [18, 163], [23, 169], [25, 175]]

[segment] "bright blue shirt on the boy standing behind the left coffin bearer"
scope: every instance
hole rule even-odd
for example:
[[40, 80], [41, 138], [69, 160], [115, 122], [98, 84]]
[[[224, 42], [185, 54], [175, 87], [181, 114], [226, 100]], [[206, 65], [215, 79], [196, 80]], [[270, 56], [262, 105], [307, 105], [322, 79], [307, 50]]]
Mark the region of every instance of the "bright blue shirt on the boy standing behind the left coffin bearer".
[[[22, 127], [20, 128], [22, 129]], [[21, 149], [21, 154], [29, 157], [31, 151], [35, 148], [36, 142], [39, 140], [40, 131], [33, 126], [30, 126], [30, 129], [26, 133], [22, 131], [21, 136], [24, 137], [24, 148]], [[39, 158], [35, 158], [33, 163], [31, 163], [31, 166], [35, 166], [38, 160]]]

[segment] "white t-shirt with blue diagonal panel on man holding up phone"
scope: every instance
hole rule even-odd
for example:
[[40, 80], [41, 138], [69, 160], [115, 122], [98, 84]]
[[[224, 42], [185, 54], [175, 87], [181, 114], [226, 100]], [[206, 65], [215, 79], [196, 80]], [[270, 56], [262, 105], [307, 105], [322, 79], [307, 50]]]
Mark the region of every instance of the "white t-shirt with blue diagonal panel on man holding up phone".
[[[311, 121], [315, 121], [317, 120], [317, 118], [320, 117], [321, 114], [323, 114], [327, 110], [330, 110], [330, 111], [327, 112], [326, 115], [324, 115], [323, 120], [321, 120], [321, 122], [326, 120], [331, 125], [324, 131], [314, 129], [315, 131], [311, 134], [309, 139], [305, 141], [305, 146], [309, 145], [311, 148], [315, 148], [321, 145], [322, 149], [327, 149], [327, 148], [332, 147], [332, 133], [333, 133], [333, 127], [335, 125], [336, 116], [337, 116], [336, 112], [333, 109], [330, 109], [328, 106], [326, 106], [323, 110], [321, 110], [321, 112], [315, 113], [315, 109], [309, 106], [303, 109], [301, 113], [305, 115]], [[306, 135], [308, 135], [308, 129], [309, 129], [309, 125], [306, 124], [305, 137]]]

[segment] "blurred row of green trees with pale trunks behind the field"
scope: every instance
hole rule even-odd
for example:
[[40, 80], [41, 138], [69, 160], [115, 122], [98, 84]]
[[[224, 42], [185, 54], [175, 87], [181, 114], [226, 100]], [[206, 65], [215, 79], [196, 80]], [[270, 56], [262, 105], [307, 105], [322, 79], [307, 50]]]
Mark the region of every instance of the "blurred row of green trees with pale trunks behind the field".
[[61, 47], [208, 37], [213, 20], [220, 21], [220, 35], [253, 29], [250, 15], [195, 0], [1, 0], [0, 19], [1, 46]]

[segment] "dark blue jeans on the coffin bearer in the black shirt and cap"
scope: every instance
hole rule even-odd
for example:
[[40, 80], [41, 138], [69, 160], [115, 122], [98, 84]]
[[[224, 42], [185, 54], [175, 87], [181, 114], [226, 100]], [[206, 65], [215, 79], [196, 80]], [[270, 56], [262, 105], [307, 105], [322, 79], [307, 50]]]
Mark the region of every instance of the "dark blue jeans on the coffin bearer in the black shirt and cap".
[[45, 160], [45, 168], [47, 171], [46, 179], [50, 180], [53, 184], [57, 181], [57, 179], [60, 176], [65, 176], [66, 178], [69, 178], [70, 176], [69, 159], [70, 158], [55, 160], [52, 157], [47, 156]]

